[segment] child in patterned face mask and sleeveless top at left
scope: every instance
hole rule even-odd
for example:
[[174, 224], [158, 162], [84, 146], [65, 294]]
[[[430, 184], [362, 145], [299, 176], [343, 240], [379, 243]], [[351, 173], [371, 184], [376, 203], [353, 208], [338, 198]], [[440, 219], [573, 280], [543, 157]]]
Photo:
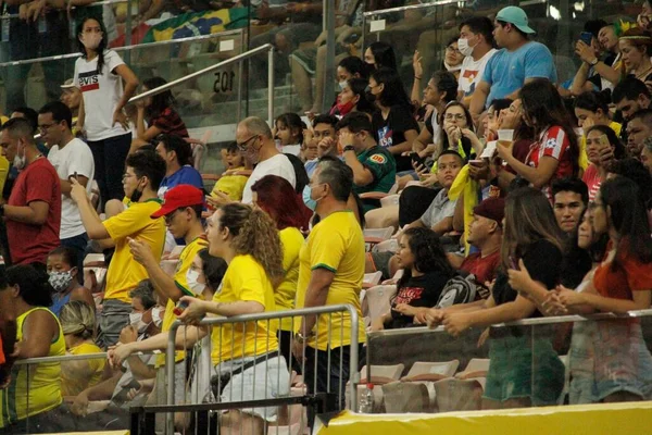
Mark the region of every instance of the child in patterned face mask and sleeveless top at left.
[[83, 273], [83, 269], [79, 269], [77, 263], [77, 251], [65, 246], [60, 246], [48, 256], [48, 281], [54, 289], [50, 311], [57, 316], [61, 314], [61, 309], [73, 300], [88, 303], [95, 312], [95, 300], [90, 290], [79, 285], [78, 275]]

